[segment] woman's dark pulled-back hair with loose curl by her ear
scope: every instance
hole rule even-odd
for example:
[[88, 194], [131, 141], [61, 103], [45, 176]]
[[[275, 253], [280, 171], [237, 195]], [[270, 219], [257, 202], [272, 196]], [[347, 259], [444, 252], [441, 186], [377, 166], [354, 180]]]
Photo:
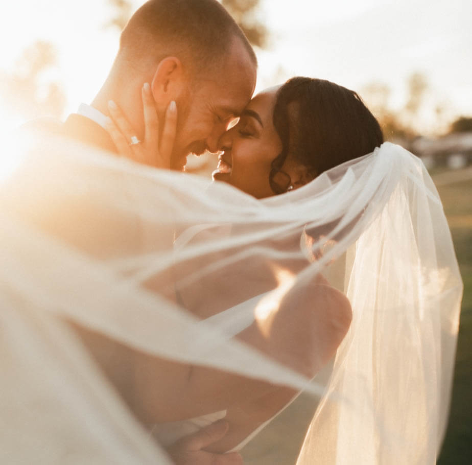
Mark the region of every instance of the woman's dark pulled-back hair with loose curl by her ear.
[[282, 85], [273, 122], [283, 147], [269, 175], [275, 194], [289, 187], [282, 171], [289, 155], [315, 178], [384, 142], [379, 123], [356, 92], [322, 79], [295, 77]]

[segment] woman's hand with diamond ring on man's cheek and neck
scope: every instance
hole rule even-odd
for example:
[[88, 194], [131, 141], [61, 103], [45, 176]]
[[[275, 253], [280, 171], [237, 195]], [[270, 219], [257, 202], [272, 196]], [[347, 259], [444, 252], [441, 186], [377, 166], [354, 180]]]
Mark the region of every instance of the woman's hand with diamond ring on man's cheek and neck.
[[[155, 168], [170, 168], [172, 148], [177, 127], [177, 106], [172, 101], [165, 114], [162, 133], [159, 134], [159, 117], [148, 83], [141, 89], [144, 108], [144, 138], [140, 141], [123, 111], [110, 100], [111, 118], [107, 130], [120, 155]], [[159, 137], [160, 135], [160, 137]]]

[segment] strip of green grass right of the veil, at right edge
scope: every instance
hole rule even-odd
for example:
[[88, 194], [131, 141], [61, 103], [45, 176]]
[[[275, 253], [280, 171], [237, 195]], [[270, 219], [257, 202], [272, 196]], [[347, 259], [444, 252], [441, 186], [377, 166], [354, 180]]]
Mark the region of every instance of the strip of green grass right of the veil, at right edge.
[[464, 281], [451, 416], [438, 465], [468, 465], [472, 462], [472, 179], [438, 191]]

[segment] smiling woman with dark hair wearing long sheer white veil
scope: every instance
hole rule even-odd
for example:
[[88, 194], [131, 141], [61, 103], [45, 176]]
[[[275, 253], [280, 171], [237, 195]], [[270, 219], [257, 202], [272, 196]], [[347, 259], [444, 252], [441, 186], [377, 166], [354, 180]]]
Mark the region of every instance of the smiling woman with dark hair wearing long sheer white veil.
[[[124, 153], [149, 149], [125, 147], [121, 123], [110, 131]], [[41, 142], [2, 189], [4, 299], [15, 309], [3, 318], [21, 335], [6, 348], [23, 362], [8, 371], [2, 408], [22, 386], [43, 413], [23, 420], [25, 437], [151, 461], [155, 446], [116, 389], [142, 423], [164, 424], [161, 442], [170, 423], [223, 412], [230, 430], [213, 447], [227, 451], [296, 392], [319, 394], [309, 380], [336, 352], [299, 463], [434, 462], [461, 281], [431, 179], [411, 154], [381, 145], [354, 92], [295, 78], [254, 98], [221, 138], [215, 178], [226, 183], [210, 189]], [[70, 363], [44, 350], [59, 343]], [[31, 369], [39, 353], [41, 375]], [[10, 443], [32, 456], [26, 439]]]

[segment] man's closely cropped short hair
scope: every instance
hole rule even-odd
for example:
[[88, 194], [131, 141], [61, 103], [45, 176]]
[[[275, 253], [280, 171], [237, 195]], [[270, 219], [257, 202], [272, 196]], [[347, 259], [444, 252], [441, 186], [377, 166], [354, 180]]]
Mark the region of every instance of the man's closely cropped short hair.
[[239, 39], [254, 66], [252, 47], [230, 14], [216, 0], [150, 0], [130, 18], [120, 38], [121, 55], [138, 65], [177, 56], [196, 73], [222, 63], [233, 39]]

